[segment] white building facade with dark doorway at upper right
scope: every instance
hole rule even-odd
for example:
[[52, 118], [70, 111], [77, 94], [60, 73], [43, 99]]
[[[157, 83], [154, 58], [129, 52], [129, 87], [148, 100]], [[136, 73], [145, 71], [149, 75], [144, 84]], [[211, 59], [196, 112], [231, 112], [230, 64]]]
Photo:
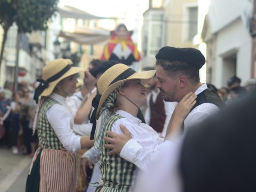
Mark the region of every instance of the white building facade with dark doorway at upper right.
[[251, 77], [250, 0], [211, 0], [202, 30], [207, 44], [207, 82], [226, 87], [236, 75], [242, 85]]

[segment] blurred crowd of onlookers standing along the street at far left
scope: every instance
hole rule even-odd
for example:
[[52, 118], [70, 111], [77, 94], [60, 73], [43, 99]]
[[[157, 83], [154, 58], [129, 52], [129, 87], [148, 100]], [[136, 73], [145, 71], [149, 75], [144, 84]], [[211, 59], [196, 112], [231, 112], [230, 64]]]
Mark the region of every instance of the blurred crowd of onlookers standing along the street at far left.
[[37, 134], [32, 135], [36, 110], [33, 100], [34, 85], [22, 81], [14, 93], [12, 83], [0, 88], [0, 145], [11, 148], [13, 154], [33, 156], [38, 144]]

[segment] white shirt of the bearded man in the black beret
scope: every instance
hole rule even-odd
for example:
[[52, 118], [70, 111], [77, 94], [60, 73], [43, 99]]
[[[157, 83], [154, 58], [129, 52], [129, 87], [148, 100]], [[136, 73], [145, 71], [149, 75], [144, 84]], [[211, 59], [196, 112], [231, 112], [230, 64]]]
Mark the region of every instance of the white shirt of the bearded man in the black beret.
[[[195, 94], [198, 95], [205, 89], [207, 89], [207, 86], [203, 84], [195, 91]], [[185, 130], [188, 130], [188, 127], [191, 125], [201, 122], [219, 110], [212, 103], [203, 103], [201, 105], [195, 107], [186, 118]], [[126, 143], [120, 156], [122, 154], [122, 158], [130, 162], [134, 161], [134, 164], [147, 164], [147, 168], [138, 177], [139, 180], [137, 181], [135, 192], [182, 192], [181, 178], [178, 170], [181, 144], [182, 138], [177, 143], [164, 141], [162, 144], [151, 149], [142, 147], [134, 139], [130, 139]], [[158, 177], [152, 177], [152, 175], [157, 175]]]

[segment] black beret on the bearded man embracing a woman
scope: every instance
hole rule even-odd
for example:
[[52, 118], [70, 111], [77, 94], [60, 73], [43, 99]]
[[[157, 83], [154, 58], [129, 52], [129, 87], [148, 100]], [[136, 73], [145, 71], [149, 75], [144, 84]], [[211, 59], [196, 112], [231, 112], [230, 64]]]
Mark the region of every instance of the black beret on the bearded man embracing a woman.
[[156, 59], [186, 62], [198, 69], [205, 64], [203, 54], [194, 48], [162, 47], [157, 53]]

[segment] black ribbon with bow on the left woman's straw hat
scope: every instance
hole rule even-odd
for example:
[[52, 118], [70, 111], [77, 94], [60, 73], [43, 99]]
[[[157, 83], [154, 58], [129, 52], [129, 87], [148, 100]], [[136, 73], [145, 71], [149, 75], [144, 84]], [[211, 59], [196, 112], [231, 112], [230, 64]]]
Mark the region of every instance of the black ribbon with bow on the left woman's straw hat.
[[61, 71], [56, 73], [55, 75], [51, 76], [50, 78], [44, 80], [44, 79], [36, 79], [36, 81], [40, 82], [39, 86], [35, 89], [33, 99], [36, 103], [38, 103], [38, 97], [43, 93], [45, 89], [49, 87], [49, 83], [56, 81], [59, 79], [62, 75], [65, 74], [72, 66], [70, 64], [66, 65]]

